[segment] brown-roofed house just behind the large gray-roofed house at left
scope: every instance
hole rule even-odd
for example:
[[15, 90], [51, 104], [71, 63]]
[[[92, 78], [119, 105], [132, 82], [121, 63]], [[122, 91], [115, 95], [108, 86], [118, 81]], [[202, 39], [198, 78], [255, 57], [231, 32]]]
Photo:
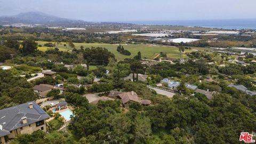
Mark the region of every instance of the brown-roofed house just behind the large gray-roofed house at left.
[[62, 87], [50, 85], [50, 84], [39, 84], [33, 87], [34, 92], [38, 93], [41, 98], [46, 98], [47, 93], [49, 93], [52, 89], [59, 89], [60, 94], [64, 93], [65, 89]]

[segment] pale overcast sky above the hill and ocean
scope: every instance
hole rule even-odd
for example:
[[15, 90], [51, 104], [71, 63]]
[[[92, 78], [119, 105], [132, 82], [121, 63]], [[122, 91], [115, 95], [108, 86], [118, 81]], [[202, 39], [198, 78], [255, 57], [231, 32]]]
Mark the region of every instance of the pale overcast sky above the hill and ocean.
[[256, 19], [255, 0], [0, 0], [0, 16], [39, 11], [85, 21]]

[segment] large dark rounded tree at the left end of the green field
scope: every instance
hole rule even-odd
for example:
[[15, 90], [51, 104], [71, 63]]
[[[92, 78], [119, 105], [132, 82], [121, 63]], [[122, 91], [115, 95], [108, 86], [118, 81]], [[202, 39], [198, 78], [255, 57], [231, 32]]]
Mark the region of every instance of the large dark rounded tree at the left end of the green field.
[[32, 39], [25, 39], [22, 43], [21, 52], [25, 55], [32, 54], [37, 50], [37, 43]]

